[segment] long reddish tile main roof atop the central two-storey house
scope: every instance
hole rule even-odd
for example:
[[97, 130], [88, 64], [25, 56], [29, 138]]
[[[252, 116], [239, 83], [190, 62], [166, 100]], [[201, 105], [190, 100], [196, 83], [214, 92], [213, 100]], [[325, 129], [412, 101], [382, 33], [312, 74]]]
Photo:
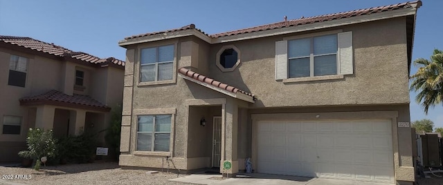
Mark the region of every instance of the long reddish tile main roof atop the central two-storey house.
[[[274, 29], [279, 29], [279, 28], [287, 28], [287, 27], [292, 27], [292, 26], [305, 25], [305, 24], [309, 24], [309, 23], [317, 23], [317, 22], [323, 22], [323, 21], [332, 21], [332, 20], [336, 20], [336, 19], [357, 17], [357, 16], [361, 16], [361, 15], [365, 15], [365, 14], [375, 14], [375, 13], [379, 13], [379, 12], [388, 12], [388, 11], [399, 10], [399, 9], [403, 9], [403, 8], [411, 8], [413, 6], [418, 7], [421, 5], [422, 5], [422, 1], [409, 1], [409, 2], [405, 2], [405, 3], [397, 3], [397, 4], [388, 5], [388, 6], [365, 8], [365, 9], [359, 9], [359, 10], [352, 10], [352, 11], [348, 11], [348, 12], [339, 12], [339, 13], [334, 13], [334, 14], [324, 14], [324, 15], [315, 16], [315, 17], [306, 17], [306, 18], [301, 17], [300, 19], [293, 19], [293, 20], [289, 20], [289, 21], [270, 23], [270, 24], [266, 24], [266, 25], [262, 25], [262, 26], [255, 26], [252, 28], [244, 28], [241, 30], [234, 30], [234, 31], [229, 31], [229, 32], [221, 32], [221, 33], [217, 33], [217, 34], [213, 34], [213, 35], [208, 35], [208, 37], [219, 38], [219, 37], [228, 37], [228, 36], [233, 36], [233, 35], [242, 35], [242, 34], [251, 33], [251, 32], [260, 32], [260, 31], [264, 31], [264, 30], [274, 30]], [[183, 26], [183, 27], [177, 28], [177, 29], [164, 30], [161, 32], [150, 32], [150, 33], [145, 33], [142, 35], [134, 35], [131, 37], [126, 37], [125, 39], [134, 39], [137, 37], [160, 35], [160, 34], [164, 34], [164, 33], [168, 33], [168, 32], [177, 32], [177, 31], [181, 31], [181, 30], [191, 30], [191, 29], [195, 29], [199, 32], [202, 32], [201, 30], [195, 28], [195, 24], [192, 23], [188, 26]], [[204, 32], [202, 32], [202, 33], [204, 33]]]

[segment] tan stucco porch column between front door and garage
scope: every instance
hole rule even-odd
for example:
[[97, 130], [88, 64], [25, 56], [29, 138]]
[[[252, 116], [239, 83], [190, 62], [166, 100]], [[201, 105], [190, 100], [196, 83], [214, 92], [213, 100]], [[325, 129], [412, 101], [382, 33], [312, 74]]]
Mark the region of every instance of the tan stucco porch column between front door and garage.
[[[222, 108], [223, 109], [223, 108]], [[237, 160], [237, 132], [238, 106], [232, 98], [228, 98], [224, 111], [221, 111], [221, 161], [220, 171], [224, 173], [238, 173]], [[224, 162], [230, 162], [230, 169], [224, 169]]]

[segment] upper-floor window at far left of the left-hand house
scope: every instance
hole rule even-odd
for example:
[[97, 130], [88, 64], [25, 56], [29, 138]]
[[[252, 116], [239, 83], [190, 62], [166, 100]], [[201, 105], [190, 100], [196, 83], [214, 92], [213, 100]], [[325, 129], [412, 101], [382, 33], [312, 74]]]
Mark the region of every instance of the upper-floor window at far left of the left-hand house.
[[9, 61], [8, 85], [25, 87], [26, 73], [28, 71], [27, 61], [28, 59], [25, 57], [11, 55]]

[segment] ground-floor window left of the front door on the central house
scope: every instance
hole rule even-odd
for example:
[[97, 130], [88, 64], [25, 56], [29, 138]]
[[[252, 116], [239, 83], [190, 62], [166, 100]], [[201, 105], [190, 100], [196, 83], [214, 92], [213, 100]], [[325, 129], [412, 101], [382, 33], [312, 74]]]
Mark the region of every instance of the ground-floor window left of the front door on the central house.
[[171, 117], [172, 115], [139, 115], [136, 150], [168, 152]]

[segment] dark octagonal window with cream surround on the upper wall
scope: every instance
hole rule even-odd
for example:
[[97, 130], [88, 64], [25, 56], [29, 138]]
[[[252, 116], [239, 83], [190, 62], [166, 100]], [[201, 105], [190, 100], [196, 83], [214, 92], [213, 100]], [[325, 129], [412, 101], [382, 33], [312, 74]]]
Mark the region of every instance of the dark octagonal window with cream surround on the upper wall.
[[240, 53], [235, 46], [224, 46], [217, 52], [217, 66], [221, 71], [233, 71], [240, 63]]

